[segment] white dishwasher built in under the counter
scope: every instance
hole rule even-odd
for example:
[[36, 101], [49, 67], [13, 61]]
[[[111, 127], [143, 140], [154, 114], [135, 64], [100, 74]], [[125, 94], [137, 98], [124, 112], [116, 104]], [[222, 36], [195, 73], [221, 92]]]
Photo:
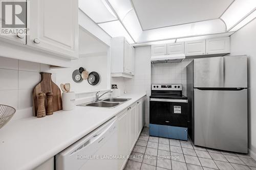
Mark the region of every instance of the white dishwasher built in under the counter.
[[118, 169], [117, 118], [114, 117], [56, 155], [57, 170]]

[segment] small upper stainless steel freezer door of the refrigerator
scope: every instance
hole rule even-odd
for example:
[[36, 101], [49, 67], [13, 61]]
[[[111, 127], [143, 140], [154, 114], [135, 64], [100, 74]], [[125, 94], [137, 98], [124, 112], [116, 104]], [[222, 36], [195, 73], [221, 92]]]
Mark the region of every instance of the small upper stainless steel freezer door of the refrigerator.
[[194, 87], [247, 87], [247, 57], [227, 56], [195, 59]]

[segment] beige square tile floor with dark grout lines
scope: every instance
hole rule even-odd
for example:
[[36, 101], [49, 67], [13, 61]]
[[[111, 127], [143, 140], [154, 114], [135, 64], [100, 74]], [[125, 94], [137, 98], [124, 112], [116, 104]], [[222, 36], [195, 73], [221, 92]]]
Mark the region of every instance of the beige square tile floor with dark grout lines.
[[256, 161], [246, 154], [195, 146], [182, 141], [149, 136], [144, 128], [125, 170], [256, 170]]

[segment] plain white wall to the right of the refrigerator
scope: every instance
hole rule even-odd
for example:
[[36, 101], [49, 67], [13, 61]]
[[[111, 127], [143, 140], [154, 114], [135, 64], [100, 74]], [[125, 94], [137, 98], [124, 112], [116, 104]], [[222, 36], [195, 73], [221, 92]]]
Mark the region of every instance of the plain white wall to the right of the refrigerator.
[[[248, 144], [256, 153], [256, 19], [231, 35], [231, 55], [248, 55]], [[256, 155], [254, 155], [256, 159]]]

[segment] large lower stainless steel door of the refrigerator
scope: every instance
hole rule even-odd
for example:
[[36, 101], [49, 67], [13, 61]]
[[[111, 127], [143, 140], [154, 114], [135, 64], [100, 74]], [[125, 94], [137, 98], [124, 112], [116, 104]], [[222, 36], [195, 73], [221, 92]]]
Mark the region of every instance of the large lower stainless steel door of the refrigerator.
[[247, 153], [247, 89], [195, 89], [195, 144]]

